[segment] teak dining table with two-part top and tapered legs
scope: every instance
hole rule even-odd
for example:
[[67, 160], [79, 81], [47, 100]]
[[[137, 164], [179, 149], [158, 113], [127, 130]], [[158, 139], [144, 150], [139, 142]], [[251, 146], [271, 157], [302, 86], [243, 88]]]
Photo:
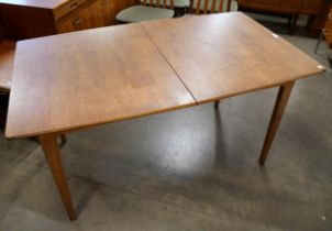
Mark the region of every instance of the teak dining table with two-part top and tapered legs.
[[264, 164], [296, 80], [325, 70], [243, 13], [118, 25], [18, 43], [5, 136], [37, 136], [70, 220], [57, 139], [279, 87]]

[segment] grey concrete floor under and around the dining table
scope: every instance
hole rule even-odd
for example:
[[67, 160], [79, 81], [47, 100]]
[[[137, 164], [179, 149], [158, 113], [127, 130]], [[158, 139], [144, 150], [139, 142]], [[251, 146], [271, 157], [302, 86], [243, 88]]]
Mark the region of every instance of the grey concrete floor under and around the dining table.
[[[284, 36], [328, 65], [316, 40]], [[297, 82], [257, 164], [277, 89], [73, 133], [69, 222], [41, 147], [0, 136], [1, 231], [332, 230], [332, 76]], [[3, 133], [3, 131], [1, 132]]]

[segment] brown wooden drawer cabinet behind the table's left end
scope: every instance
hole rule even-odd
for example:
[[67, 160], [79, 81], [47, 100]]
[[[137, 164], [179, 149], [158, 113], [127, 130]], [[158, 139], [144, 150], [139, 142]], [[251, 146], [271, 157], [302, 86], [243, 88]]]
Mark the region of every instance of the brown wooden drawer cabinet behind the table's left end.
[[115, 24], [115, 14], [136, 0], [0, 0], [10, 40], [25, 40]]

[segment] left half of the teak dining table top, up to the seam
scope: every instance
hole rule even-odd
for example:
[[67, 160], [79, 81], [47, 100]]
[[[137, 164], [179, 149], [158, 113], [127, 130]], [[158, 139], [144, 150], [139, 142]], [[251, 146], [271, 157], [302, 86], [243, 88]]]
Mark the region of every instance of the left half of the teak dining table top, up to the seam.
[[196, 105], [143, 28], [19, 42], [5, 136], [32, 136]]

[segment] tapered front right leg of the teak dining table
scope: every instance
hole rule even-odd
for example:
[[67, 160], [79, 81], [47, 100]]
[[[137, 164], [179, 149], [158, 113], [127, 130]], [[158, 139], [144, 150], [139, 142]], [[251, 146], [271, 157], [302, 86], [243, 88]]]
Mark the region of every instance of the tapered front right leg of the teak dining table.
[[265, 141], [263, 144], [263, 148], [259, 156], [259, 164], [264, 165], [265, 160], [268, 155], [268, 152], [270, 150], [272, 143], [274, 141], [275, 134], [278, 130], [279, 123], [281, 121], [285, 108], [287, 106], [291, 89], [294, 87], [294, 81], [287, 82], [279, 88], [278, 97], [276, 100], [275, 109], [269, 122], [269, 127], [265, 136]]

